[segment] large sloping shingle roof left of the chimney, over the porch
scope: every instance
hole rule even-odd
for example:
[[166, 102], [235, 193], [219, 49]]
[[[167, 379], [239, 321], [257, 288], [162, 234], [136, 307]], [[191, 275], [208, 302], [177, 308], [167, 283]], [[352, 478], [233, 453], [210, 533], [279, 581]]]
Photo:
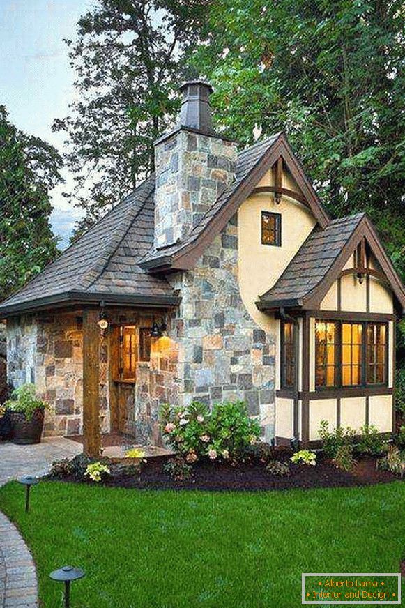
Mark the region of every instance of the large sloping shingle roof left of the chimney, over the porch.
[[153, 244], [154, 187], [151, 176], [4, 301], [0, 316], [72, 301], [177, 303], [164, 278], [146, 274], [137, 264]]

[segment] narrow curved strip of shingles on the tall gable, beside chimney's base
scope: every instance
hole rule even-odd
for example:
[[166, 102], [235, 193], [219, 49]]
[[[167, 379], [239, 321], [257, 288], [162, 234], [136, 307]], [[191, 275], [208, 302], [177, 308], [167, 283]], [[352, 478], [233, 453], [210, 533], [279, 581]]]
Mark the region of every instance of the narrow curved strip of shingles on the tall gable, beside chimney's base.
[[160, 259], [166, 259], [167, 257], [170, 257], [183, 250], [188, 245], [191, 245], [194, 243], [194, 241], [197, 241], [197, 238], [200, 236], [201, 232], [204, 231], [206, 226], [211, 222], [212, 218], [215, 217], [218, 211], [220, 211], [220, 209], [227, 204], [234, 192], [236, 192], [236, 190], [238, 190], [240, 187], [240, 184], [245, 181], [247, 175], [252, 171], [255, 165], [257, 165], [257, 162], [262, 158], [263, 154], [266, 153], [271, 146], [273, 146], [274, 142], [279, 136], [280, 133], [276, 133], [275, 135], [272, 135], [272, 137], [265, 139], [263, 142], [257, 142], [257, 144], [250, 146], [250, 148], [241, 151], [238, 154], [235, 180], [230, 183], [227, 188], [225, 188], [213, 206], [201, 219], [201, 222], [199, 222], [199, 224], [192, 229], [190, 235], [181, 243], [174, 243], [174, 245], [169, 245], [169, 247], [164, 248], [152, 248], [142, 258], [140, 262], [141, 266], [144, 268], [149, 268], [151, 266], [158, 265]]

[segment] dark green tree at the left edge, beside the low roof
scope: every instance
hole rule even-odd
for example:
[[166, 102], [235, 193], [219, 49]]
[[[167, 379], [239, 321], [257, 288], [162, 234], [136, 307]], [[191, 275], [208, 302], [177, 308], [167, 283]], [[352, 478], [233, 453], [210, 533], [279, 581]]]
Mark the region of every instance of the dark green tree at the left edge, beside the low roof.
[[61, 167], [56, 149], [17, 130], [0, 105], [0, 301], [58, 252], [49, 190], [61, 183]]

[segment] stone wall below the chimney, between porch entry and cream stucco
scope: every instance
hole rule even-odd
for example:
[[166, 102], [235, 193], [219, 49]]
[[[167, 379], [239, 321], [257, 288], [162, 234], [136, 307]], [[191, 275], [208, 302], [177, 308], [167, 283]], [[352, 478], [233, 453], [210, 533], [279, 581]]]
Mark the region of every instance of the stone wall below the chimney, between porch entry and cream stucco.
[[275, 335], [240, 298], [237, 215], [192, 271], [169, 277], [181, 290], [171, 336], [178, 342], [178, 400], [244, 400], [270, 441], [275, 424]]

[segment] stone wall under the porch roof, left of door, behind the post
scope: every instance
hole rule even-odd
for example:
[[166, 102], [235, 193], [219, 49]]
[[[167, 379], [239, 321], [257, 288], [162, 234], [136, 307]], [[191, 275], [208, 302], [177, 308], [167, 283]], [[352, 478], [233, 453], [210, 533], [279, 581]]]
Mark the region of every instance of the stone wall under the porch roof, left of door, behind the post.
[[[79, 314], [24, 315], [7, 321], [8, 379], [13, 386], [36, 384], [52, 406], [47, 435], [82, 432], [83, 333]], [[100, 344], [100, 427], [109, 430], [107, 347]]]

